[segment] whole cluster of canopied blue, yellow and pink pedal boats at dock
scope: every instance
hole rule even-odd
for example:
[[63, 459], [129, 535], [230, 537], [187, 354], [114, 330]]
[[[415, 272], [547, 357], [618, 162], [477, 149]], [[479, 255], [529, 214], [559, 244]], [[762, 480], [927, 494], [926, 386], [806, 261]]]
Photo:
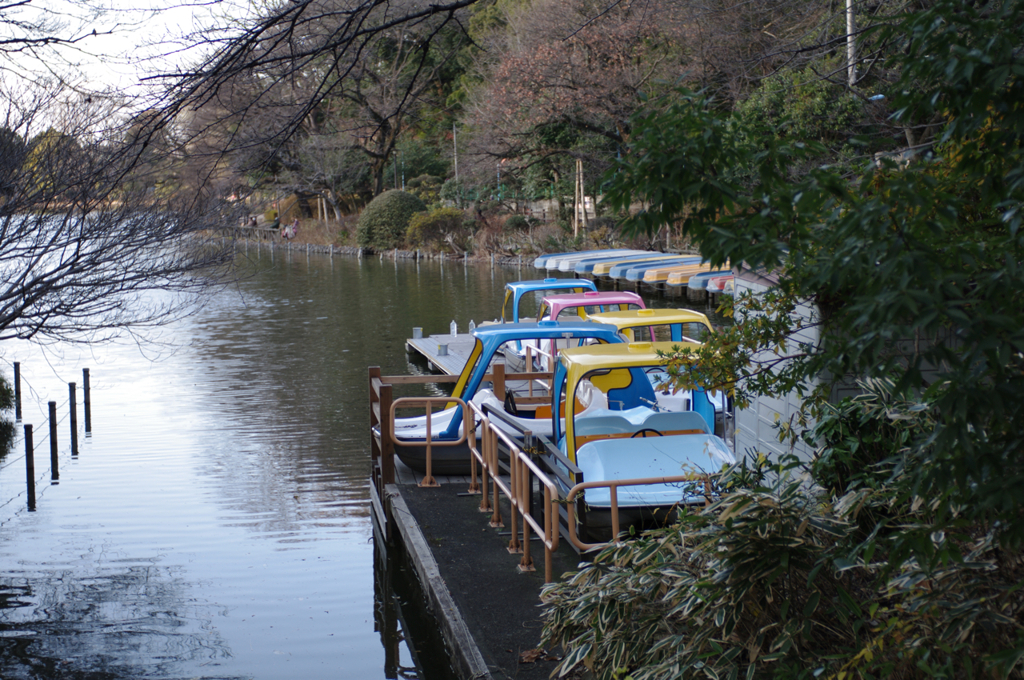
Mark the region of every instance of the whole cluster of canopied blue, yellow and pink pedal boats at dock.
[[[527, 318], [527, 308], [538, 315]], [[639, 520], [702, 503], [705, 486], [678, 477], [692, 472], [695, 479], [734, 462], [722, 436], [731, 418], [728, 394], [676, 388], [665, 359], [696, 349], [714, 332], [700, 312], [648, 309], [635, 293], [598, 291], [588, 279], [510, 283], [502, 316], [471, 332], [452, 396], [476, 403], [510, 437], [546, 437], [565, 492], [583, 480], [646, 480], [617, 491], [620, 516], [633, 512], [625, 520]], [[495, 379], [499, 364], [504, 381]], [[424, 471], [427, 432], [434, 443], [459, 439], [463, 417], [453, 401], [429, 416], [396, 418], [395, 454]], [[429, 455], [435, 474], [469, 471], [468, 445], [430, 447]], [[665, 477], [676, 480], [654, 482]], [[584, 493], [598, 515], [610, 509], [608, 487]]]

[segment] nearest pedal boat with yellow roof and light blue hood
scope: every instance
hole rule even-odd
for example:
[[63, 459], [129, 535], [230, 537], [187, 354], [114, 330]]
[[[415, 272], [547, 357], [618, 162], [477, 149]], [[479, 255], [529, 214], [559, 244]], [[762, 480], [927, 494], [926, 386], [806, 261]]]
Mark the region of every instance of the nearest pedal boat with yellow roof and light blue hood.
[[[707, 397], [699, 398], [702, 392], [693, 399], [692, 411], [665, 412], [650, 406], [656, 387], [651, 374], [665, 369], [657, 351], [680, 344], [584, 346], [559, 355], [552, 401], [565, 403], [565, 417], [553, 420], [553, 440], [582, 471], [584, 481], [692, 476], [692, 482], [621, 486], [617, 506], [624, 528], [664, 522], [674, 506], [702, 504], [703, 475], [735, 462], [725, 440], [712, 433], [708, 423], [713, 412]], [[590, 397], [585, 410], [581, 392]], [[609, 406], [594, 408], [595, 399]], [[607, 487], [584, 492], [589, 538], [608, 538], [610, 496]]]

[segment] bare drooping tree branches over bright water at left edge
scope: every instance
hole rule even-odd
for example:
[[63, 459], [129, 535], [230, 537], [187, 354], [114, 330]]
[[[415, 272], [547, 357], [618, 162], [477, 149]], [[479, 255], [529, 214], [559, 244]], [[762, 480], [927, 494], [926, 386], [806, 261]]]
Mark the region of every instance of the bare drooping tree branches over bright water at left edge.
[[14, 93], [0, 119], [8, 145], [26, 142], [2, 176], [0, 340], [96, 341], [188, 313], [227, 275], [209, 235], [229, 206], [158, 187], [140, 161], [152, 138], [126, 139], [101, 103], [58, 105], [57, 92]]

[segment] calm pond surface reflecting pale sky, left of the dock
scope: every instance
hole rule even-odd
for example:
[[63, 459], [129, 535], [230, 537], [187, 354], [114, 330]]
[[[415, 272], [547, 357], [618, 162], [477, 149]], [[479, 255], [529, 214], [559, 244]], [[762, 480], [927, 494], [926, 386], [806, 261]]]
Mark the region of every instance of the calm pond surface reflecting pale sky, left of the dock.
[[[19, 436], [0, 459], [5, 680], [447, 676], [417, 638], [408, 571], [375, 555], [367, 367], [423, 373], [404, 352], [413, 327], [464, 332], [498, 315], [507, 281], [543, 273], [248, 259], [252, 275], [145, 344], [0, 345], [8, 378], [20, 363], [39, 480], [30, 512]], [[83, 368], [92, 433], [72, 457], [68, 382], [82, 432]]]

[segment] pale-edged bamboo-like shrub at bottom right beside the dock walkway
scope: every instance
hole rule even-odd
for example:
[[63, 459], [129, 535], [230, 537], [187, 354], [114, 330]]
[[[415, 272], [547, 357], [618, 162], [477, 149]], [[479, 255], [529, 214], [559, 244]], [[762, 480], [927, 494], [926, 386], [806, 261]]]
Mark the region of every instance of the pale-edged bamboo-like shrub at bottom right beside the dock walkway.
[[[865, 385], [869, 396], [842, 409], [862, 424], [926, 427], [930, 406], [895, 405], [890, 388]], [[926, 499], [892, 503], [907, 490], [908, 462], [891, 460], [882, 483], [842, 495], [809, 485], [795, 459], [728, 470], [728, 491], [707, 508], [611, 544], [545, 588], [543, 642], [566, 649], [558, 671], [585, 664], [602, 680], [1020, 677], [1011, 673], [1024, 650], [1020, 553], [1000, 554], [993, 532], [932, 537], [964, 554], [937, 570], [912, 559], [885, 568], [893, 540], [850, 557], [864, 541], [862, 515], [890, 516], [889, 537], [930, 521]]]

